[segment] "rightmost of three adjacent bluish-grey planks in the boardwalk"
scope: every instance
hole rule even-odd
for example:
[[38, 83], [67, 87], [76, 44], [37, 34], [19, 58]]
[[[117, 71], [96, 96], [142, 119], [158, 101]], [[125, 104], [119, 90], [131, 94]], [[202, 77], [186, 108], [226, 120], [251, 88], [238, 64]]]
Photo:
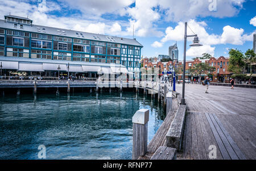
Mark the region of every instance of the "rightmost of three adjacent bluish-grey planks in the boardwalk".
[[220, 120], [218, 119], [218, 117], [216, 116], [216, 114], [212, 114], [214, 119], [217, 121], [218, 126], [220, 126], [222, 132], [224, 133], [224, 135], [226, 136], [226, 139], [228, 139], [230, 145], [232, 146], [232, 148], [234, 149], [234, 151], [236, 152], [237, 156], [239, 159], [241, 160], [245, 160], [246, 157], [245, 155], [242, 153], [242, 151], [240, 150], [240, 148], [238, 148], [237, 144], [234, 142], [234, 140], [232, 139], [232, 137], [229, 135], [228, 131], [226, 131], [225, 127], [223, 126], [223, 124], [220, 122]]

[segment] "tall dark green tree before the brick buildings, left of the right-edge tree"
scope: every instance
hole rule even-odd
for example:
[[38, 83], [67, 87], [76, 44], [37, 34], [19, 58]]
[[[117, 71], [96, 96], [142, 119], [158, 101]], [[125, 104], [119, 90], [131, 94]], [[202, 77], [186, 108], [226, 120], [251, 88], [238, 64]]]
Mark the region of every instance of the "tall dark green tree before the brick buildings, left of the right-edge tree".
[[237, 49], [229, 50], [229, 67], [228, 71], [239, 74], [245, 66], [245, 56]]

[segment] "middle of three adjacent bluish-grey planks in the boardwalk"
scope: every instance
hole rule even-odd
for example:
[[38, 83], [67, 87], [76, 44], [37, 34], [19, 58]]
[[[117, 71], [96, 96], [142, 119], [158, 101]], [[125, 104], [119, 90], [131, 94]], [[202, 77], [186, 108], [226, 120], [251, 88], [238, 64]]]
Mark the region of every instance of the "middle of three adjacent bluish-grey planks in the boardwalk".
[[222, 132], [220, 126], [218, 126], [218, 123], [216, 122], [216, 120], [214, 119], [213, 115], [212, 114], [209, 114], [210, 116], [210, 119], [212, 120], [212, 123], [214, 125], [214, 127], [216, 128], [217, 132], [218, 132], [218, 135], [220, 136], [221, 138], [221, 141], [222, 143], [224, 144], [225, 148], [226, 148], [226, 151], [228, 151], [229, 153], [229, 156], [232, 160], [238, 160], [238, 156], [236, 154], [236, 152], [234, 152], [232, 146], [229, 144], [229, 141], [228, 139], [226, 139], [226, 136], [224, 135], [224, 133]]

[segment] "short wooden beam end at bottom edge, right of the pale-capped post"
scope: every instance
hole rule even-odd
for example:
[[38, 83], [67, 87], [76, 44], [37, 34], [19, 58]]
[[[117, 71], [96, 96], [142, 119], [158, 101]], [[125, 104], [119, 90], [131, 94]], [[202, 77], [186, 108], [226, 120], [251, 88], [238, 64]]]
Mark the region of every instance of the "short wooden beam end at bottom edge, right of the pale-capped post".
[[176, 149], [171, 147], [160, 146], [151, 160], [174, 160], [176, 157]]

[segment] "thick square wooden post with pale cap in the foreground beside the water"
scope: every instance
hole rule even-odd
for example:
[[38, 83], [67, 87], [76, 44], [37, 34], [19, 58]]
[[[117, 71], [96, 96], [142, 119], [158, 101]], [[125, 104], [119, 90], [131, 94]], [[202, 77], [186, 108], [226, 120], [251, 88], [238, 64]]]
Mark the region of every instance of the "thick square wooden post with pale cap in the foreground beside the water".
[[133, 115], [133, 160], [147, 153], [147, 122], [149, 110], [140, 109]]

